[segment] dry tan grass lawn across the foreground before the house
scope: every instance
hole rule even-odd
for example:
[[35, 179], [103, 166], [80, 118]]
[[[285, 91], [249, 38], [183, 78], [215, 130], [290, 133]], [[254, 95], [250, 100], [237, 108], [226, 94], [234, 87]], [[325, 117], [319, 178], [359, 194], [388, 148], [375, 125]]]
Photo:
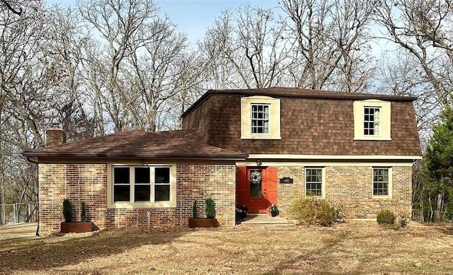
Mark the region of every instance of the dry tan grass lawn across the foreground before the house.
[[453, 225], [348, 221], [0, 240], [0, 274], [453, 275]]

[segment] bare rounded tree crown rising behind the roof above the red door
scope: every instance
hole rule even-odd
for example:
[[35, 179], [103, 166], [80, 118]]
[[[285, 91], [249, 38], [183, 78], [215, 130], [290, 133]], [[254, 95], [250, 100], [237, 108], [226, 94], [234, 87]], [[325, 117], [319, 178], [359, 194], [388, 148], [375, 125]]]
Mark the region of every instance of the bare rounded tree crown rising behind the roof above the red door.
[[[280, 24], [280, 25], [279, 25]], [[279, 85], [287, 66], [284, 29], [270, 9], [245, 6], [224, 11], [207, 30], [200, 49], [211, 62], [209, 74], [221, 88]]]

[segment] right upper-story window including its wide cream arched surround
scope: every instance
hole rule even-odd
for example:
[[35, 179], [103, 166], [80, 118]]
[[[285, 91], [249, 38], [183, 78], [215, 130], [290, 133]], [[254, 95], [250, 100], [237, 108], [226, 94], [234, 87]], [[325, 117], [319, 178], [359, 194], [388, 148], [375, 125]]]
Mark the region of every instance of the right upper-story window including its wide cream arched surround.
[[391, 141], [391, 105], [382, 100], [355, 101], [354, 139]]

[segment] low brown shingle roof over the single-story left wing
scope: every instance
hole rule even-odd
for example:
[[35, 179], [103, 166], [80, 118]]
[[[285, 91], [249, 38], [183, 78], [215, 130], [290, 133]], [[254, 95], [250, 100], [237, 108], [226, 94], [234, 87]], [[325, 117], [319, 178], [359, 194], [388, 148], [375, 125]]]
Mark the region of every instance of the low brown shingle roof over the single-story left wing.
[[93, 139], [24, 151], [28, 158], [178, 158], [243, 160], [246, 154], [207, 145], [192, 130], [121, 131]]

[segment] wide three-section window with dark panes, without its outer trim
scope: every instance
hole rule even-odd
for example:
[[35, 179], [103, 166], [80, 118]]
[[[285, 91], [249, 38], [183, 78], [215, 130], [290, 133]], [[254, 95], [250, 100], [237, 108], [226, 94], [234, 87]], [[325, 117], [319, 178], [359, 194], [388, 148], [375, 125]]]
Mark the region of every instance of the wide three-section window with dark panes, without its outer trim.
[[171, 168], [113, 166], [113, 202], [170, 201]]

